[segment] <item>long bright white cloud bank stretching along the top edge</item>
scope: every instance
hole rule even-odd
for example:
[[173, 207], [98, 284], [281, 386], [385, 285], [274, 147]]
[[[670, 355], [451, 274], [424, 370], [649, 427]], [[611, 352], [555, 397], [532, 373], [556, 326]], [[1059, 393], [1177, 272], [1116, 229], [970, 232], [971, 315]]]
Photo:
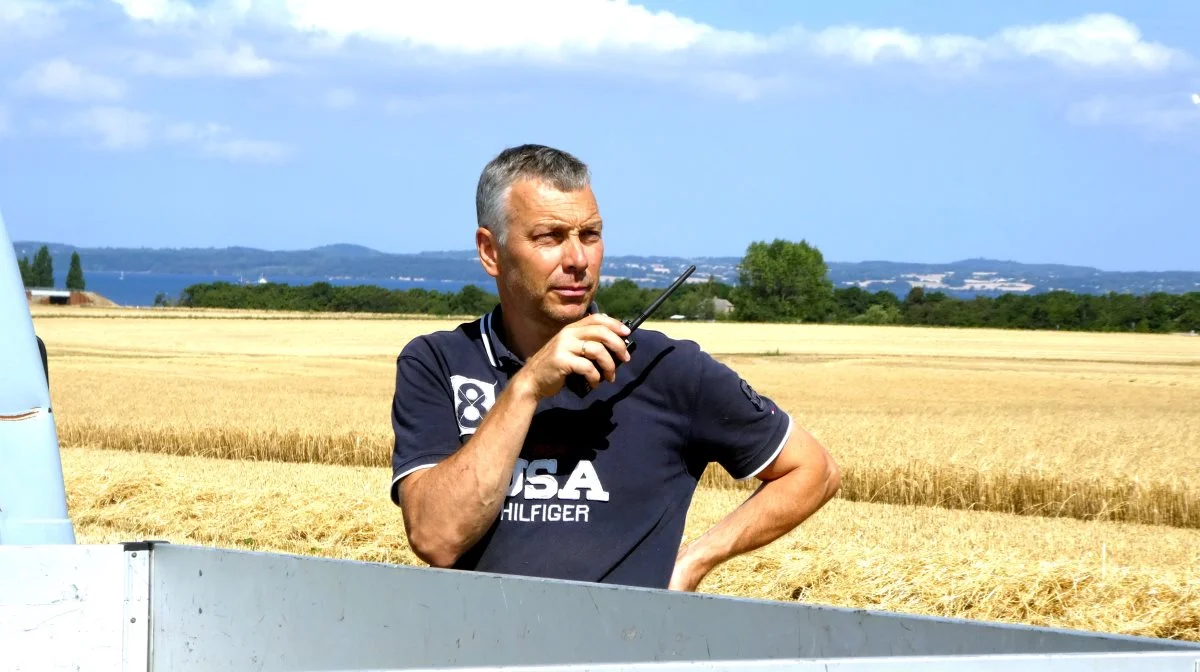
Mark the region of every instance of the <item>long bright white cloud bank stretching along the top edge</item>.
[[236, 26], [251, 22], [342, 43], [366, 40], [455, 55], [523, 55], [557, 61], [600, 53], [762, 54], [806, 50], [857, 64], [906, 61], [976, 67], [1037, 59], [1067, 68], [1159, 71], [1187, 56], [1146, 41], [1115, 14], [1016, 25], [992, 36], [920, 35], [900, 28], [803, 26], [775, 35], [721, 30], [628, 0], [114, 0], [156, 24]]

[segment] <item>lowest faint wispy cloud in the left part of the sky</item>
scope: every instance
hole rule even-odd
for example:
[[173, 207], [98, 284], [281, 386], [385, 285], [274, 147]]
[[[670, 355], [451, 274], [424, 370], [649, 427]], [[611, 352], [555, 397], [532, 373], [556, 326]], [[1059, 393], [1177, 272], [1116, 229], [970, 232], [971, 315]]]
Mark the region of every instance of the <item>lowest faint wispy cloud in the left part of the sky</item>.
[[202, 156], [260, 163], [283, 161], [292, 154], [287, 145], [241, 138], [220, 124], [166, 122], [144, 112], [113, 106], [92, 107], [72, 114], [58, 130], [114, 151], [175, 145]]

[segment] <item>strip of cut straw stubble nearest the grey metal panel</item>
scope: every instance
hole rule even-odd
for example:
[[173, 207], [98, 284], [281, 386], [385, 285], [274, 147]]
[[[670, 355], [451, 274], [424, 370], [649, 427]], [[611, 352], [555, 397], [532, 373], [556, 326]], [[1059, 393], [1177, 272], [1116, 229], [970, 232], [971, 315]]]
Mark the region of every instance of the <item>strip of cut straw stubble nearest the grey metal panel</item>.
[[[97, 449], [62, 461], [80, 542], [420, 564], [385, 469]], [[743, 497], [698, 492], [685, 538]], [[1200, 641], [1198, 563], [1200, 530], [834, 499], [700, 590]]]

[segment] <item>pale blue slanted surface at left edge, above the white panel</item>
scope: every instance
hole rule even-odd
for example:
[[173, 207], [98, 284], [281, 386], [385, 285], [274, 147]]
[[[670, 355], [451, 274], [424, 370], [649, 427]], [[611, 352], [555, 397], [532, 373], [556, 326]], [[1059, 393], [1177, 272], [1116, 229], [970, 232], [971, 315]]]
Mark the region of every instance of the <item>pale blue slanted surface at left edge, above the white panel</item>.
[[0, 545], [74, 544], [50, 394], [0, 216]]

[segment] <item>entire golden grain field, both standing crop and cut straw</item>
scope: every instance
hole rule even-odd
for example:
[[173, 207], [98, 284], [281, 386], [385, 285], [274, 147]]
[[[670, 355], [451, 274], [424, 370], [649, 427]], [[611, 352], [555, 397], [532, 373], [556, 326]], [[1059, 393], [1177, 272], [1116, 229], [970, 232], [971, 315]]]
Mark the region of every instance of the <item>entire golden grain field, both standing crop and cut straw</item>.
[[[416, 562], [386, 502], [395, 358], [460, 320], [34, 314], [84, 538]], [[1200, 338], [646, 328], [697, 341], [842, 467], [838, 500], [702, 589], [1200, 640]], [[689, 534], [746, 493], [710, 470]]]

